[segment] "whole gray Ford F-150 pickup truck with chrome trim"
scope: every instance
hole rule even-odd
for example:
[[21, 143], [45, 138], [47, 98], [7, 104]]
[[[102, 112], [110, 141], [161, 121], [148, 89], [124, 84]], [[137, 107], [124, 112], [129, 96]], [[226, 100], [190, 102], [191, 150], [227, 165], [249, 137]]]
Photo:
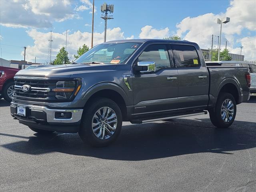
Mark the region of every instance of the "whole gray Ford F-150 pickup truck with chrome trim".
[[230, 126], [250, 98], [246, 67], [206, 67], [196, 43], [117, 40], [72, 64], [32, 68], [14, 77], [11, 115], [38, 134], [76, 133], [92, 146], [116, 140], [123, 121], [146, 123], [210, 113]]

